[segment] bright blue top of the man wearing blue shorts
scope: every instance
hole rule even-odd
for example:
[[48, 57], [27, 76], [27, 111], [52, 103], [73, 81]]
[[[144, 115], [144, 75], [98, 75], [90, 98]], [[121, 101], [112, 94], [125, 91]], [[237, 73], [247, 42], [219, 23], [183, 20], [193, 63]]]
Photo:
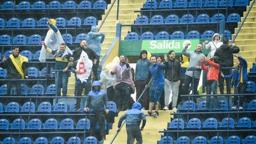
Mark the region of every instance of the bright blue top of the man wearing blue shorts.
[[164, 84], [164, 68], [165, 65], [162, 63], [156, 63], [149, 67], [151, 76], [153, 76], [153, 84]]

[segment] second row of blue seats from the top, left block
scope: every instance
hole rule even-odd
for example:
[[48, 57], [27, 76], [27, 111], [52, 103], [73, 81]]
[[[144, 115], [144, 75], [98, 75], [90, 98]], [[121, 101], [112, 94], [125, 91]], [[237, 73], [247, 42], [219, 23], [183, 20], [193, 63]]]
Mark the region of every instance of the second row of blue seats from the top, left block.
[[[0, 28], [47, 28], [48, 24], [47, 21], [49, 18], [43, 17], [39, 19], [37, 22], [35, 19], [29, 17], [27, 19], [24, 19], [22, 22], [22, 25], [20, 26], [20, 20], [16, 17], [13, 17], [12, 19], [8, 20], [8, 22], [5, 24], [4, 19], [0, 18]], [[37, 24], [36, 24], [37, 23]], [[82, 24], [80, 17], [72, 17], [68, 22], [66, 22], [65, 18], [58, 17], [56, 18], [56, 26], [58, 28], [65, 28], [65, 27], [81, 27], [81, 26], [95, 26], [97, 25], [97, 19], [93, 16], [86, 17], [84, 19], [84, 22]]]

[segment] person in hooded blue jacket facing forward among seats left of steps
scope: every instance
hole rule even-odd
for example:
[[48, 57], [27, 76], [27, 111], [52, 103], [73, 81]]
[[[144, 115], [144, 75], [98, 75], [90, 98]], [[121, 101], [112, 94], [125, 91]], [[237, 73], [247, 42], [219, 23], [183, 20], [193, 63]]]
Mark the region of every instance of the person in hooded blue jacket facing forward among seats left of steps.
[[91, 109], [92, 113], [95, 114], [90, 115], [90, 134], [92, 136], [96, 136], [95, 126], [97, 122], [99, 122], [100, 135], [102, 136], [102, 140], [105, 140], [105, 114], [109, 113], [108, 97], [106, 92], [100, 89], [99, 81], [93, 81], [92, 90], [88, 93], [87, 100], [84, 105], [84, 111], [87, 112], [89, 108]]

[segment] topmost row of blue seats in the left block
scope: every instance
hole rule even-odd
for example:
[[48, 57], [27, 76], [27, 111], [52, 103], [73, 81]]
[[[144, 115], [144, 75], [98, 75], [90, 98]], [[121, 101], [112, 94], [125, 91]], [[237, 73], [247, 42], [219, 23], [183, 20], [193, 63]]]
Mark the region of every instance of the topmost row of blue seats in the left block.
[[106, 1], [98, 0], [95, 1], [92, 7], [91, 1], [81, 1], [81, 3], [76, 4], [75, 1], [66, 1], [65, 3], [61, 4], [60, 1], [51, 1], [49, 5], [44, 3], [44, 1], [36, 1], [32, 6], [28, 1], [21, 1], [17, 6], [15, 6], [15, 3], [13, 1], [6, 1], [3, 3], [2, 9], [8, 10], [8, 9], [45, 9], [45, 8], [52, 8], [52, 9], [76, 9], [76, 8], [85, 8], [85, 9], [102, 9], [106, 10], [107, 3]]

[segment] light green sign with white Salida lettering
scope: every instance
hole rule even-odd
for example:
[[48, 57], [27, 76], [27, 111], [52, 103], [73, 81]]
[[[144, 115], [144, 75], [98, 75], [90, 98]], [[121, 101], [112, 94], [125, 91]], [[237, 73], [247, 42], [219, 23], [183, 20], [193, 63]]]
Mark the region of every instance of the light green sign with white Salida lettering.
[[190, 43], [188, 51], [195, 51], [196, 45], [199, 44], [199, 39], [191, 40], [143, 40], [141, 49], [145, 49], [150, 53], [168, 53], [173, 50], [177, 53], [182, 52], [182, 49]]

